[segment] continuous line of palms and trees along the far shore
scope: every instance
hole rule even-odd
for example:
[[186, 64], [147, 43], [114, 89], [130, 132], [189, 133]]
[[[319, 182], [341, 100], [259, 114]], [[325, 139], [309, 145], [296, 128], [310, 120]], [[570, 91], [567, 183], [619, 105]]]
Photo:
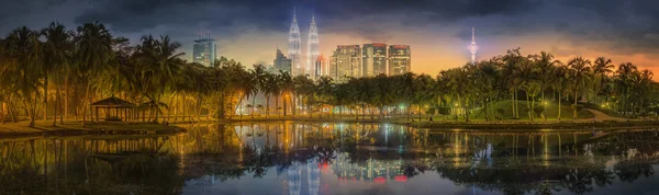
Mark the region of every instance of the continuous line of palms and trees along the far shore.
[[[545, 51], [524, 56], [518, 48], [436, 77], [410, 72], [336, 83], [330, 77], [269, 71], [264, 65], [247, 69], [225, 57], [204, 67], [181, 59], [180, 46], [169, 36], [152, 35], [132, 45], [99, 22], [75, 30], [56, 22], [42, 30], [15, 28], [0, 38], [1, 121], [23, 118], [33, 126], [52, 119], [55, 126], [72, 115], [85, 125], [89, 105], [108, 96], [137, 103], [148, 113], [143, 121], [150, 122], [256, 114], [362, 119], [440, 114], [469, 121], [477, 113], [487, 121], [504, 115], [533, 121], [547, 117], [547, 102], [571, 105], [573, 118], [589, 103], [640, 116], [654, 111], [659, 91], [652, 72], [630, 62], [617, 68], [604, 57], [562, 62]], [[513, 102], [512, 113], [494, 108], [503, 100]]]

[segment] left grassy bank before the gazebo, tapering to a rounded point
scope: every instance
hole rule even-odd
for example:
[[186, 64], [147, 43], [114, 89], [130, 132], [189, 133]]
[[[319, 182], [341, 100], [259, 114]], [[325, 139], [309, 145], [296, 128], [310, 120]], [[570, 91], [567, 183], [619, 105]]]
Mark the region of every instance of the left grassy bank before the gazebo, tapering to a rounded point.
[[57, 122], [52, 126], [52, 121], [37, 121], [34, 127], [29, 122], [0, 124], [0, 138], [7, 137], [35, 137], [35, 136], [81, 136], [81, 135], [154, 135], [177, 134], [186, 131], [185, 128], [172, 125], [154, 123], [90, 123], [82, 127], [79, 121], [65, 121], [64, 125]]

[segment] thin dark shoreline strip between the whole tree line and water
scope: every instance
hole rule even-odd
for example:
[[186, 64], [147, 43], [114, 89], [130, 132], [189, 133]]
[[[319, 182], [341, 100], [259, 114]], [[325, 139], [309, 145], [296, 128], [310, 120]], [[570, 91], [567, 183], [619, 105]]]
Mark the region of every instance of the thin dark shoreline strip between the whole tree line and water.
[[[576, 130], [619, 130], [634, 128], [659, 128], [659, 121], [537, 121], [537, 122], [409, 122], [398, 119], [355, 119], [355, 118], [232, 118], [232, 119], [202, 119], [197, 122], [169, 122], [169, 125], [153, 123], [92, 123], [88, 127], [20, 127], [18, 131], [0, 131], [2, 138], [23, 137], [72, 137], [72, 136], [111, 136], [111, 135], [174, 135], [185, 133], [187, 125], [211, 125], [217, 123], [372, 123], [394, 124], [407, 127], [425, 128], [436, 131], [465, 130], [465, 131], [576, 131]], [[9, 124], [9, 123], [8, 123]], [[3, 125], [0, 125], [0, 128]]]

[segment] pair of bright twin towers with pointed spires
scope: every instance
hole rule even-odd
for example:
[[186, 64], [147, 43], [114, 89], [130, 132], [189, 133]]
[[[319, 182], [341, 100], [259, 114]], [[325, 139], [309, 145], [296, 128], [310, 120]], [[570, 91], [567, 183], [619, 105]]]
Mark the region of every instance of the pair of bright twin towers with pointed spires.
[[309, 27], [309, 39], [306, 42], [306, 61], [302, 64], [300, 51], [300, 27], [298, 26], [298, 18], [293, 9], [293, 22], [289, 32], [289, 58], [291, 59], [291, 74], [314, 74], [315, 61], [320, 56], [319, 51], [319, 30], [315, 24], [315, 16], [311, 16], [311, 26]]

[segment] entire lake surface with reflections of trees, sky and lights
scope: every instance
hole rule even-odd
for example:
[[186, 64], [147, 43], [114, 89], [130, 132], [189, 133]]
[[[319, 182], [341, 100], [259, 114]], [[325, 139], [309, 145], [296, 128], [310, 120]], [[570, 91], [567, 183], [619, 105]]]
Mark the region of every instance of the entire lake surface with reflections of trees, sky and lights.
[[474, 133], [305, 123], [189, 129], [172, 136], [0, 139], [0, 194], [657, 191], [643, 185], [658, 181], [657, 130]]

